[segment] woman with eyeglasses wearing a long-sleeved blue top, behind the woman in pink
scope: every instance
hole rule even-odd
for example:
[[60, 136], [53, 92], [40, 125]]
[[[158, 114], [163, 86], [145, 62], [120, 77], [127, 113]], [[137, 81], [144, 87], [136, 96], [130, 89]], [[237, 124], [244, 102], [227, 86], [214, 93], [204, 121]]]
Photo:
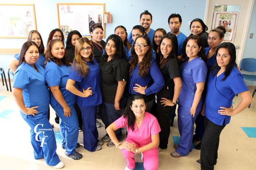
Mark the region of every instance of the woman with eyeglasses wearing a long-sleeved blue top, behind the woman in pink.
[[154, 94], [164, 86], [163, 75], [152, 59], [151, 41], [146, 35], [140, 35], [134, 41], [131, 49], [129, 69], [127, 107], [131, 103], [131, 95], [142, 94], [147, 104], [146, 111], [150, 111], [154, 103]]

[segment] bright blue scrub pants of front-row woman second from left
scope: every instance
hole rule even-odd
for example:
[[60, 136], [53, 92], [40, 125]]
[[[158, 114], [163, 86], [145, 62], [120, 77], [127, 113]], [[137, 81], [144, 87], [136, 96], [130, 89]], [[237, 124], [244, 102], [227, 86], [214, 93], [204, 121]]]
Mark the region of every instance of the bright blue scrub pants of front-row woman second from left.
[[61, 146], [65, 147], [67, 155], [76, 152], [76, 144], [79, 134], [79, 123], [76, 115], [76, 109], [72, 106], [70, 107], [72, 115], [70, 117], [64, 116], [63, 108], [55, 108], [54, 111], [58, 114], [60, 118], [60, 131], [61, 131]]

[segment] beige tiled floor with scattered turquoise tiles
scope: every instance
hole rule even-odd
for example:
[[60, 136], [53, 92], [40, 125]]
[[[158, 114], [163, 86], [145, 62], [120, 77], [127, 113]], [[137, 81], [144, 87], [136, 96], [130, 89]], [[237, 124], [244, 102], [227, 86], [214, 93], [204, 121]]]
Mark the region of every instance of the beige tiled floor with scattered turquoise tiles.
[[[252, 91], [253, 87], [250, 87]], [[239, 102], [239, 96], [234, 99], [234, 105]], [[216, 170], [256, 170], [256, 96], [250, 108], [239, 115], [233, 116], [231, 123], [221, 133], [218, 163]], [[57, 153], [64, 162], [64, 170], [123, 170], [125, 159], [116, 147], [108, 147], [106, 143], [102, 150], [89, 152], [80, 146], [77, 151], [83, 154], [81, 160], [75, 161], [65, 156], [58, 140], [58, 124], [54, 122], [55, 113], [51, 111], [50, 122], [54, 123], [57, 138]], [[99, 136], [105, 134], [104, 127], [99, 127]], [[79, 143], [83, 135], [79, 132]], [[173, 158], [170, 153], [179, 139], [177, 117], [169, 138], [168, 150], [159, 153], [159, 170], [200, 170], [195, 164], [200, 151], [193, 150], [189, 156]], [[136, 156], [140, 161], [140, 155]], [[0, 170], [52, 170], [44, 159], [35, 160], [30, 144], [29, 126], [20, 116], [11, 92], [0, 85]], [[137, 163], [141, 170], [142, 163]]]

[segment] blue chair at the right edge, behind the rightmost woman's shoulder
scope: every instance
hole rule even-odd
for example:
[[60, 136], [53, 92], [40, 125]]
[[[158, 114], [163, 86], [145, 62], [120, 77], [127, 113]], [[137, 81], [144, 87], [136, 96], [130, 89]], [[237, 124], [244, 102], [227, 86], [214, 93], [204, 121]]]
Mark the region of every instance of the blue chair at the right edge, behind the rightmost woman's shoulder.
[[[241, 60], [240, 65], [241, 70], [247, 71], [247, 72], [256, 72], [256, 59], [255, 58], [245, 58]], [[256, 82], [256, 75], [252, 74], [242, 74], [245, 80]], [[254, 96], [256, 91], [256, 86], [254, 87], [253, 94]], [[248, 106], [250, 108], [250, 105]]]

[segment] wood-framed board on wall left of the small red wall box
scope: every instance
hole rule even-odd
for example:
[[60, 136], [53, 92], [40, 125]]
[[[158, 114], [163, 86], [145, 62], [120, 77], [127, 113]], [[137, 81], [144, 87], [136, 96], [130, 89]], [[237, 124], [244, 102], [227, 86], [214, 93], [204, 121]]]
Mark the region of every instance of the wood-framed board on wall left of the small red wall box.
[[105, 36], [105, 3], [57, 3], [57, 11], [58, 26], [64, 35], [77, 30], [83, 37], [90, 37], [89, 28], [96, 23], [102, 25]]

